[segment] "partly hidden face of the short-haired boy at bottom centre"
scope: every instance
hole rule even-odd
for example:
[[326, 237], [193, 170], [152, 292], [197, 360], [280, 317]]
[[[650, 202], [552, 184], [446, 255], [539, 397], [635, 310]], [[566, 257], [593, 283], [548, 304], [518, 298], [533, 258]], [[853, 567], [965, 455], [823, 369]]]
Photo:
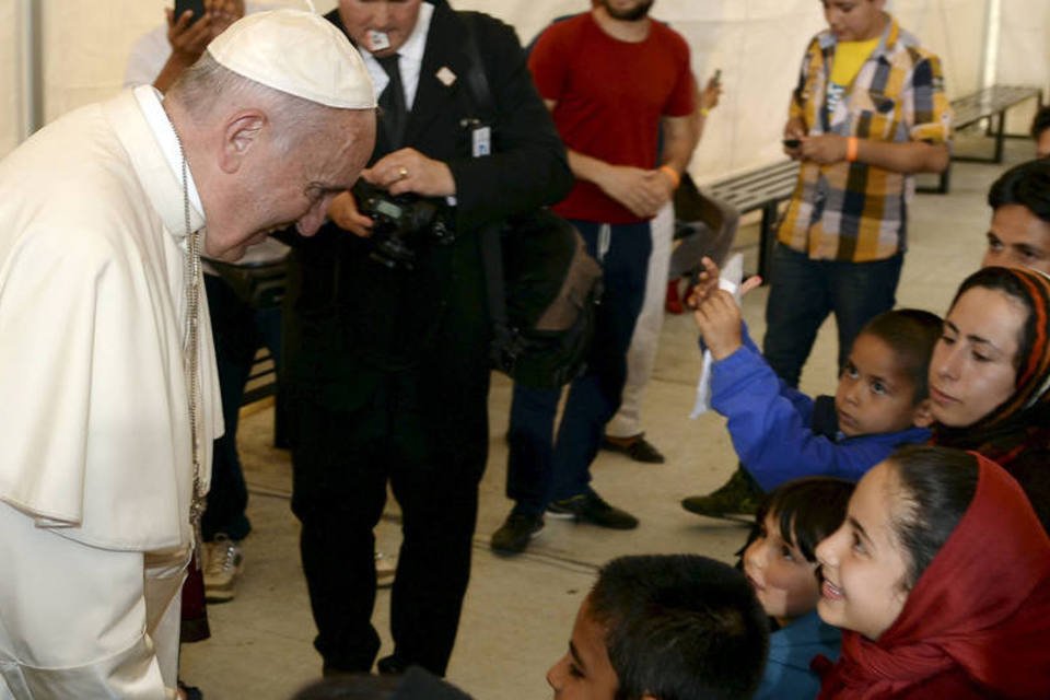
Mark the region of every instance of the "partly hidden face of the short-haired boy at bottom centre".
[[547, 672], [555, 700], [614, 700], [620, 686], [605, 648], [605, 628], [591, 617], [590, 598], [580, 606], [569, 651]]

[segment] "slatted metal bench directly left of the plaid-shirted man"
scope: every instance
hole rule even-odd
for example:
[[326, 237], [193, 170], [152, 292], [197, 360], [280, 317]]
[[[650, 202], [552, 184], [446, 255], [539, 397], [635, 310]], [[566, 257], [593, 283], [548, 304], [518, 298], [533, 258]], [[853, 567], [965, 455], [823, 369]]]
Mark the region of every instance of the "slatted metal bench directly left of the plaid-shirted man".
[[777, 243], [774, 226], [780, 215], [780, 202], [791, 198], [798, 178], [798, 163], [782, 161], [763, 165], [746, 173], [709, 183], [702, 188], [705, 195], [732, 205], [742, 214], [761, 211], [758, 243], [758, 273], [769, 279], [769, 260]]

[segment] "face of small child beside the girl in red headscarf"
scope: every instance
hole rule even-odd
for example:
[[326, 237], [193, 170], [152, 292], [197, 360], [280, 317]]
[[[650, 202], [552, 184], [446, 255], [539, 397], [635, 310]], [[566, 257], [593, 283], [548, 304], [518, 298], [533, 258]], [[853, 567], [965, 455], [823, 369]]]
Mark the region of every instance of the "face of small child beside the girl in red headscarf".
[[759, 537], [744, 550], [744, 573], [766, 614], [786, 625], [810, 612], [820, 598], [816, 562], [784, 539], [775, 513], [766, 515]]

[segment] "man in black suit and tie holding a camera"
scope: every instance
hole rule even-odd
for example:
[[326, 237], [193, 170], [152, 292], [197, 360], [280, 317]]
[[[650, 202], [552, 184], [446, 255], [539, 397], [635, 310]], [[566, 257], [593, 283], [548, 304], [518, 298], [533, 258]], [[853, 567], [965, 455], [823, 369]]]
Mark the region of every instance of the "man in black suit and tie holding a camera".
[[[383, 259], [382, 235], [348, 192], [316, 238], [295, 242], [285, 382], [315, 646], [326, 673], [372, 667], [373, 528], [389, 481], [404, 541], [395, 650], [378, 669], [418, 664], [443, 675], [488, 451], [490, 332], [477, 232], [558, 201], [572, 176], [511, 27], [444, 0], [340, 0], [327, 18], [362, 49], [381, 93], [363, 178], [436, 203], [454, 236], [424, 226], [407, 235], [411, 260]], [[468, 89], [471, 36], [494, 105]]]

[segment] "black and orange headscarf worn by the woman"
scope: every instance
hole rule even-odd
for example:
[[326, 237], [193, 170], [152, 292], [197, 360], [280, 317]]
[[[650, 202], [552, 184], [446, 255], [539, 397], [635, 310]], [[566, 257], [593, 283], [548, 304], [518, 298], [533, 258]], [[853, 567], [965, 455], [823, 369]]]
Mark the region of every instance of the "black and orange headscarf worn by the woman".
[[1023, 451], [1050, 448], [1050, 277], [1029, 269], [987, 267], [962, 281], [952, 306], [975, 287], [1004, 292], [1028, 310], [1015, 363], [1016, 388], [972, 425], [935, 427], [933, 444], [975, 450], [1008, 469]]

